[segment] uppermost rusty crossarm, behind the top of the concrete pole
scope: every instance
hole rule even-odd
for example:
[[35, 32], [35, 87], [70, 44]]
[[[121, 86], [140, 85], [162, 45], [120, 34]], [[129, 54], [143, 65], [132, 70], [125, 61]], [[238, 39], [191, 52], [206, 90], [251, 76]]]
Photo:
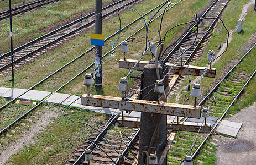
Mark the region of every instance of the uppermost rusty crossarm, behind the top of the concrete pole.
[[[126, 59], [126, 60], [119, 60], [119, 68], [132, 68], [134, 67], [134, 64], [137, 63], [137, 60], [134, 59]], [[147, 65], [149, 62], [148, 61], [140, 61], [135, 69], [137, 70], [143, 70], [144, 66]], [[204, 76], [209, 77], [209, 78], [214, 78], [216, 75], [216, 68], [207, 68], [206, 67], [198, 67], [198, 66], [192, 66], [192, 65], [174, 65], [174, 64], [169, 64], [165, 63], [168, 68], [172, 68], [170, 70], [170, 73], [175, 73], [175, 74], [184, 74], [184, 75], [194, 75], [194, 76]], [[205, 72], [206, 71], [206, 72]]]

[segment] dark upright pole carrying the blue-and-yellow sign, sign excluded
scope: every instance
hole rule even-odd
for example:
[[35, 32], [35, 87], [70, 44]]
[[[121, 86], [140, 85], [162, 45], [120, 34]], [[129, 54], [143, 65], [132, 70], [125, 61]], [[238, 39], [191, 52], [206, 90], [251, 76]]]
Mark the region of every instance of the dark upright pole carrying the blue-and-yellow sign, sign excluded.
[[[95, 34], [102, 33], [102, 1], [96, 0], [95, 8]], [[102, 86], [102, 48], [101, 46], [95, 46], [95, 67], [98, 68], [95, 72], [95, 87]]]

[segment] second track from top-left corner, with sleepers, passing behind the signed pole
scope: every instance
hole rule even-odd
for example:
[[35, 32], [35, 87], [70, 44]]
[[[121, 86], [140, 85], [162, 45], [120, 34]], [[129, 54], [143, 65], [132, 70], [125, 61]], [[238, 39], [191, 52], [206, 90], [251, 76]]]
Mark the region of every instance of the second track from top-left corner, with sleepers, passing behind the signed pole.
[[[106, 20], [113, 15], [124, 5], [130, 6], [140, 2], [139, 0], [121, 0], [102, 9], [102, 20]], [[122, 11], [122, 10], [121, 10]], [[91, 29], [95, 25], [95, 12], [86, 15], [70, 24], [60, 27], [48, 34], [36, 38], [35, 40], [26, 43], [23, 46], [13, 50], [14, 68], [18, 68], [25, 63], [33, 61], [38, 56], [45, 52], [61, 45], [71, 38], [81, 34], [82, 32]], [[11, 52], [4, 53], [0, 56], [0, 74], [5, 74], [11, 71]]]

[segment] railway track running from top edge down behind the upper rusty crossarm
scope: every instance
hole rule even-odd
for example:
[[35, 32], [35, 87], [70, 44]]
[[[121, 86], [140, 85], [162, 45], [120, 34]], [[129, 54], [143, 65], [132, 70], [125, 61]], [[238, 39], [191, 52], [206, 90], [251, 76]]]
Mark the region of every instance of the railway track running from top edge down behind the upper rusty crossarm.
[[[220, 18], [221, 13], [228, 2], [229, 1], [227, 0], [213, 1], [210, 7], [208, 7], [201, 15], [200, 19], [208, 17], [208, 15], [211, 15], [211, 17]], [[172, 45], [168, 46], [168, 50], [164, 52], [160, 60], [165, 63], [174, 63], [179, 56], [180, 47], [185, 47], [187, 50], [186, 57], [183, 59], [184, 65], [201, 59], [202, 54], [204, 54], [205, 51], [204, 45], [208, 44], [208, 40], [212, 37], [211, 31], [215, 30], [215, 25], [218, 23], [218, 21], [219, 20], [217, 19], [203, 19], [201, 21], [197, 21], [195, 24], [192, 24], [190, 28], [178, 38], [178, 40], [172, 43]], [[184, 82], [185, 76], [177, 75], [175, 78], [176, 83], [168, 97], [176, 94], [177, 90]]]

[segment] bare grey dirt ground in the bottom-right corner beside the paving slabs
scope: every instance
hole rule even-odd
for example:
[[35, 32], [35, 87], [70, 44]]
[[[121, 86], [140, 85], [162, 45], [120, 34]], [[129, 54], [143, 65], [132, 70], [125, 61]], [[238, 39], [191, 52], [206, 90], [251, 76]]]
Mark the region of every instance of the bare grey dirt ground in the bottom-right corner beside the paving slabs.
[[216, 164], [256, 164], [256, 103], [242, 109], [231, 118], [231, 122], [242, 123], [237, 138], [213, 135], [217, 140]]

